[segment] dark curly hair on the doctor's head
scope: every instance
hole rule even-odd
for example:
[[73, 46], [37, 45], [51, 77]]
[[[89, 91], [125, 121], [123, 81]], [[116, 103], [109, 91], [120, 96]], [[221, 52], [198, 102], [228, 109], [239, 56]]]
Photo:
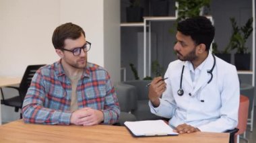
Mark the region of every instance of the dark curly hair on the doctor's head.
[[197, 16], [180, 21], [177, 30], [185, 36], [191, 36], [196, 45], [205, 44], [209, 51], [214, 40], [215, 28], [212, 22], [204, 16]]

